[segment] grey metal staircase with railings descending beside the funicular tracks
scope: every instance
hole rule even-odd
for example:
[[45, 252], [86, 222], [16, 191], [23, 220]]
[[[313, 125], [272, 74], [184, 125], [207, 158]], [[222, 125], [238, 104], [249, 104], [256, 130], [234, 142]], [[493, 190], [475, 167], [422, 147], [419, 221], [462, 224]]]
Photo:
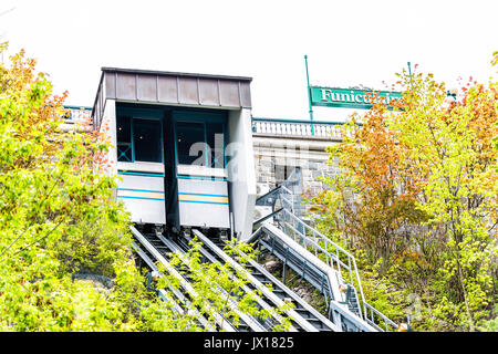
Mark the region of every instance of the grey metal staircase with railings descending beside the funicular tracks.
[[300, 217], [300, 196], [294, 191], [299, 173], [297, 168], [277, 190], [258, 199], [257, 205], [271, 206], [272, 212], [255, 222], [248, 242], [257, 242], [319, 289], [329, 319], [343, 331], [397, 330], [366, 302], [354, 257]]

